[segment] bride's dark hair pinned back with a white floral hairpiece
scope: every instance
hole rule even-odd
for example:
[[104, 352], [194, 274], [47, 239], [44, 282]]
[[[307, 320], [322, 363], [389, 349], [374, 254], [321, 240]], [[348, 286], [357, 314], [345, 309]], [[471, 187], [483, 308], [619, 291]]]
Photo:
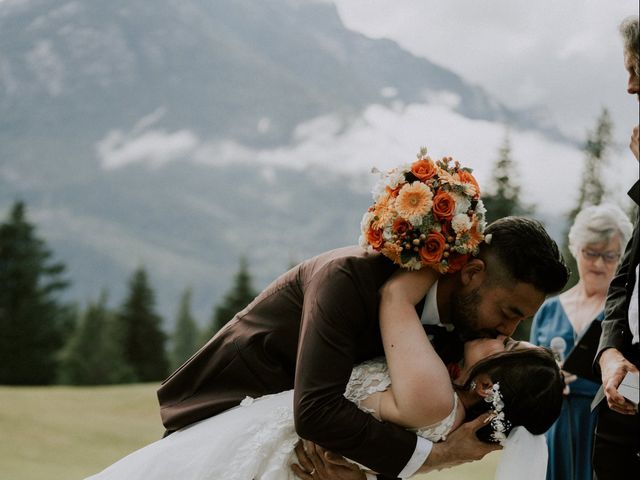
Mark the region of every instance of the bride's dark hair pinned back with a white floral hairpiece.
[[[469, 379], [462, 386], [468, 389], [479, 374], [486, 374], [500, 384], [504, 414], [511, 428], [522, 425], [534, 435], [546, 432], [556, 421], [562, 408], [564, 378], [553, 353], [536, 347], [491, 355], [473, 366]], [[467, 410], [467, 419], [491, 409], [492, 404], [480, 401]], [[481, 440], [491, 442], [491, 425], [478, 430]]]

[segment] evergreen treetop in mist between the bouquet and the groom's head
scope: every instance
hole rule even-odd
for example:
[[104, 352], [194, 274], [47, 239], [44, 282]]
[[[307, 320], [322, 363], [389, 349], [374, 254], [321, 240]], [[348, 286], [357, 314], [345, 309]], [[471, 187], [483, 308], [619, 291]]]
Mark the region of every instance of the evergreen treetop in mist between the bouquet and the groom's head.
[[530, 215], [533, 207], [520, 200], [520, 184], [516, 165], [511, 158], [509, 135], [498, 151], [498, 160], [493, 166], [493, 185], [489, 192], [483, 192], [482, 201], [487, 209], [487, 222], [510, 215]]

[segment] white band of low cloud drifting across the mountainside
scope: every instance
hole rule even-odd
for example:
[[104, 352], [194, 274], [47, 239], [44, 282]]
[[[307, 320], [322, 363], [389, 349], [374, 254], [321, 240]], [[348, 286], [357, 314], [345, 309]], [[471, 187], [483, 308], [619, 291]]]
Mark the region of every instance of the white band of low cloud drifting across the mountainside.
[[[166, 132], [156, 125], [162, 115], [154, 112], [137, 122], [131, 132], [109, 132], [97, 150], [105, 169], [140, 162], [157, 168], [177, 160], [209, 166], [262, 164], [264, 175], [272, 180], [274, 166], [308, 169], [318, 181], [325, 174], [348, 174], [353, 186], [369, 190], [375, 181], [372, 167], [387, 169], [411, 162], [418, 149], [426, 146], [434, 158], [453, 156], [473, 168], [486, 192], [507, 127], [466, 118], [453, 110], [455, 99], [444, 96], [441, 100], [371, 105], [350, 122], [338, 115], [317, 117], [298, 125], [290, 145], [271, 149], [254, 149], [231, 140], [207, 142], [189, 130]], [[512, 180], [521, 185], [523, 201], [544, 212], [563, 214], [573, 208], [584, 153], [535, 131], [511, 130], [509, 138], [517, 165], [517, 178]], [[637, 177], [637, 163], [626, 150], [614, 154], [620, 159], [605, 172], [605, 182], [616, 192], [612, 200], [624, 204], [627, 179]]]

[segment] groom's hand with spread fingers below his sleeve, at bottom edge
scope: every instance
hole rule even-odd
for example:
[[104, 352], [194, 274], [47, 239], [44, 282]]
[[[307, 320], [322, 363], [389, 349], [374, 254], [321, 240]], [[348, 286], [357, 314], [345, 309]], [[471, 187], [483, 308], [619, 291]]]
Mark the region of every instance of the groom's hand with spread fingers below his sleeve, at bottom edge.
[[298, 462], [291, 465], [296, 477], [303, 480], [365, 480], [366, 475], [357, 465], [348, 462], [340, 455], [328, 452], [324, 448], [307, 440], [296, 445]]

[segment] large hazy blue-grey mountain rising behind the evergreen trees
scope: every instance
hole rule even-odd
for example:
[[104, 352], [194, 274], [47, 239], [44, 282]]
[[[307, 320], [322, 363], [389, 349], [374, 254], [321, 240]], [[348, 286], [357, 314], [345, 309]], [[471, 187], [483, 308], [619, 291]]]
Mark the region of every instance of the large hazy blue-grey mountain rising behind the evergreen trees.
[[[354, 243], [370, 201], [335, 173], [216, 162], [190, 146], [278, 148], [321, 115], [348, 122], [443, 95], [465, 117], [558, 135], [346, 29], [326, 1], [4, 0], [0, 46], [0, 207], [27, 201], [69, 265], [71, 298], [107, 287], [117, 302], [142, 263], [166, 317], [192, 285], [204, 321], [241, 255], [262, 287]], [[130, 161], [140, 156], [155, 163]]]

